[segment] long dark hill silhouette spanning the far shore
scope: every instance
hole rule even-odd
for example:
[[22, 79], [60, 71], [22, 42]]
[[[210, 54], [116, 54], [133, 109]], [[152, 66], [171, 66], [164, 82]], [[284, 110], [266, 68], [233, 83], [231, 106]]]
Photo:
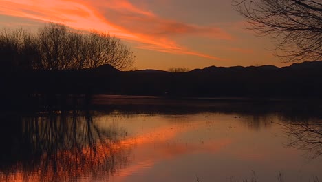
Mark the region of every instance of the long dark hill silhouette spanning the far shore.
[[119, 71], [111, 65], [63, 71], [1, 72], [1, 99], [21, 94], [129, 94], [167, 97], [322, 98], [322, 61], [277, 68], [207, 67], [189, 72]]

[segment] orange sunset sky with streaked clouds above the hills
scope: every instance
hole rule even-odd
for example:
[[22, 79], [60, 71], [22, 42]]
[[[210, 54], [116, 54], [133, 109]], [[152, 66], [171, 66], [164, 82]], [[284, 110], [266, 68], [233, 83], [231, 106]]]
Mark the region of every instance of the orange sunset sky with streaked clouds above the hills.
[[129, 45], [135, 69], [277, 65], [269, 37], [258, 37], [230, 0], [0, 0], [0, 27], [45, 23], [108, 32]]

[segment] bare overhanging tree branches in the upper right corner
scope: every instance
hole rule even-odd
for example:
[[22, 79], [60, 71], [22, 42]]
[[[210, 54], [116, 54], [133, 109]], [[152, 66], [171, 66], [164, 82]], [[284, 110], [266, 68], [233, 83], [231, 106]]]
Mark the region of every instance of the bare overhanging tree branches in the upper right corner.
[[322, 57], [321, 0], [233, 0], [250, 29], [275, 40], [275, 54], [285, 62]]

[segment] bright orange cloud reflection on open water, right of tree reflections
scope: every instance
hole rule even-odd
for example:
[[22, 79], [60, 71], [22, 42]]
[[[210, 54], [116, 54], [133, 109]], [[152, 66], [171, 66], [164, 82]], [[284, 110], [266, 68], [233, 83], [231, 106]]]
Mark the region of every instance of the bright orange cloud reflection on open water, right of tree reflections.
[[[203, 126], [200, 123], [191, 123], [189, 127], [182, 125], [171, 125], [172, 128], [170, 126], [160, 127], [154, 130], [153, 133], [142, 134], [133, 139], [122, 141], [123, 145], [125, 143], [135, 143], [136, 161], [139, 161], [139, 163], [129, 164], [127, 168], [122, 169], [119, 176], [116, 176], [116, 181], [125, 181], [127, 176], [135, 173], [144, 173], [159, 161], [174, 159], [186, 154], [214, 154], [232, 143], [230, 139], [223, 138], [208, 143], [189, 143], [189, 146], [185, 143], [170, 144], [178, 135], [189, 132], [189, 130], [197, 130]], [[152, 143], [155, 145], [154, 148], [151, 148]]]

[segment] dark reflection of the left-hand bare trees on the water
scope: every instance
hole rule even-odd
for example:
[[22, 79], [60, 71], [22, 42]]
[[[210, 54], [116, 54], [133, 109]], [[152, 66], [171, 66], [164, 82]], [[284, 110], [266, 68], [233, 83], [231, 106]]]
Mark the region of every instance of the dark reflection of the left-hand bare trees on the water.
[[22, 152], [0, 171], [0, 181], [108, 179], [129, 162], [129, 148], [120, 143], [125, 131], [98, 127], [89, 112], [50, 112], [21, 123], [20, 141], [8, 150]]

